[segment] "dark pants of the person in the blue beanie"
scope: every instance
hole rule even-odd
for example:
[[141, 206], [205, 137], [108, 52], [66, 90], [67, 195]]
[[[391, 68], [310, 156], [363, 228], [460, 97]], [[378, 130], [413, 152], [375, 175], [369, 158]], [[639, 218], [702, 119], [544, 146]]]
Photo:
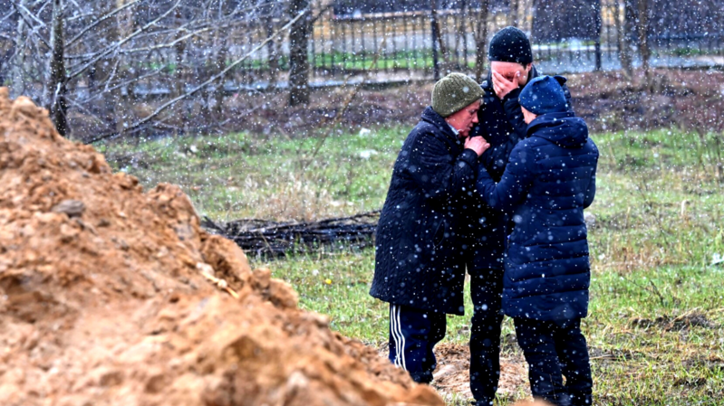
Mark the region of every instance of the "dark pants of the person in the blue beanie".
[[533, 396], [558, 406], [590, 406], [594, 382], [581, 319], [514, 320], [518, 345], [526, 355]]

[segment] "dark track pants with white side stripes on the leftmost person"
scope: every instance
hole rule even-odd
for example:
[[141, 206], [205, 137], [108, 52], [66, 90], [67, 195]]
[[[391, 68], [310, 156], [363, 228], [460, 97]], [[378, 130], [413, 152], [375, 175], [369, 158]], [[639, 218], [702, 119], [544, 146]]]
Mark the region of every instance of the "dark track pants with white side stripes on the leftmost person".
[[445, 336], [445, 313], [390, 305], [390, 361], [419, 383], [432, 382], [432, 348]]

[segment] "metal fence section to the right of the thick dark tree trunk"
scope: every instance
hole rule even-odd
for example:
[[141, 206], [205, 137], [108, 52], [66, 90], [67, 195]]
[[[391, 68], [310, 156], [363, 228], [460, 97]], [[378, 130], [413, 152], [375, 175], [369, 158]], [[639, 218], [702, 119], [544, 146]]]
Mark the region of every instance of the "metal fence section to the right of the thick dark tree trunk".
[[[588, 21], [582, 23], [594, 26], [587, 27], [587, 35], [555, 41], [532, 35], [534, 59], [543, 71], [621, 69], [619, 32], [625, 24], [623, 3], [610, 0], [588, 3], [594, 6], [589, 7]], [[520, 8], [515, 13], [491, 10], [487, 15], [484, 49], [487, 50], [490, 37], [507, 25], [516, 25], [529, 35], [534, 33], [536, 9], [531, 4], [519, 2]], [[477, 9], [438, 11], [437, 38], [430, 11], [345, 16], [327, 11], [314, 24], [310, 46], [314, 77], [330, 79], [340, 74], [372, 71], [372, 80], [432, 79], [439, 76], [439, 71], [473, 72], [478, 49], [474, 33], [479, 15]], [[555, 11], [546, 18], [555, 22]], [[701, 61], [701, 56], [724, 54], [724, 33], [671, 35], [657, 33], [656, 28], [653, 26], [648, 35], [653, 66], [685, 68], [707, 63]], [[635, 29], [629, 29], [626, 43], [632, 48], [633, 64], [640, 63], [635, 56], [638, 43]]]

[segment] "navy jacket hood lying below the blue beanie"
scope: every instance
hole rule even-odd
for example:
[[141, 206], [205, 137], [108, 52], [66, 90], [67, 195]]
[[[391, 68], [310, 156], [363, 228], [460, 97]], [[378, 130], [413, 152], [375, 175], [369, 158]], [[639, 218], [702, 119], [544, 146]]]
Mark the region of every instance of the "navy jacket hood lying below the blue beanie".
[[564, 148], [581, 148], [588, 141], [588, 126], [570, 111], [538, 116], [528, 125], [528, 137], [541, 137]]

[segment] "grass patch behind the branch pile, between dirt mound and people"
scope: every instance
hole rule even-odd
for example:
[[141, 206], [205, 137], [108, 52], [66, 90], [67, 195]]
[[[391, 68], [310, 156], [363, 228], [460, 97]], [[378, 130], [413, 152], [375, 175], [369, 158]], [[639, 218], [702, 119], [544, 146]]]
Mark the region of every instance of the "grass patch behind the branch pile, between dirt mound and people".
[[234, 134], [113, 144], [101, 150], [116, 169], [138, 176], [143, 184], [179, 184], [198, 212], [215, 219], [314, 219], [380, 208], [405, 136], [401, 128], [334, 131], [320, 148], [318, 138]]

